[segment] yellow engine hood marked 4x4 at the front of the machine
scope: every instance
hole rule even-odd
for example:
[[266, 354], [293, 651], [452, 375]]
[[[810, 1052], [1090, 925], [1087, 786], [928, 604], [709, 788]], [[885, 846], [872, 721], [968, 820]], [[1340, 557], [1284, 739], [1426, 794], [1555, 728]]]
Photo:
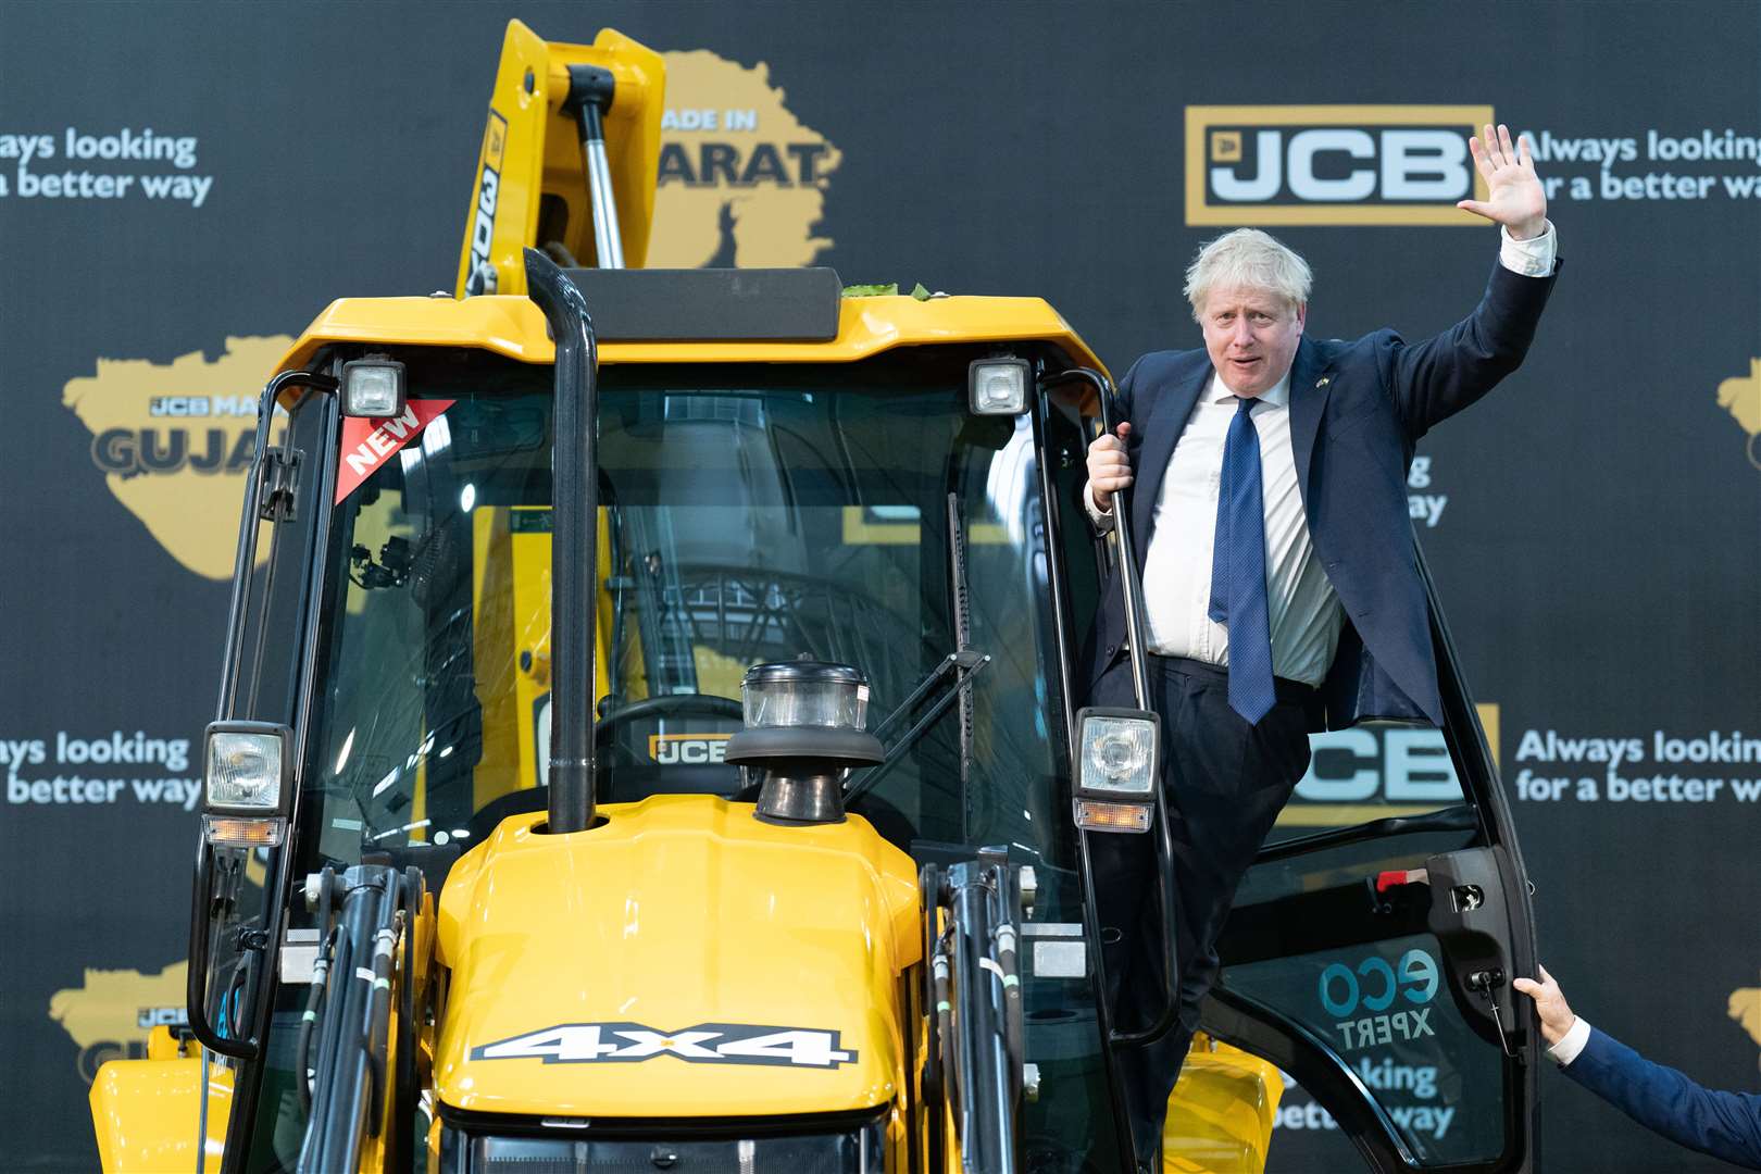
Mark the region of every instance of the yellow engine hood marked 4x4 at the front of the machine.
[[535, 834], [505, 820], [440, 894], [435, 1081], [479, 1112], [863, 1109], [903, 1079], [916, 868], [861, 818], [773, 827], [657, 796]]

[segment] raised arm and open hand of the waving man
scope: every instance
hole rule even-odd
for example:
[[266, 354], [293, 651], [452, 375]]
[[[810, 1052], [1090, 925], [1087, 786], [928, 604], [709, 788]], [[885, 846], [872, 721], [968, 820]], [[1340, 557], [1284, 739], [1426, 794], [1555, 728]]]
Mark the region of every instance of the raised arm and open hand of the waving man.
[[1527, 139], [1513, 146], [1509, 128], [1486, 127], [1485, 143], [1469, 139], [1469, 146], [1486, 180], [1486, 199], [1456, 206], [1499, 225], [1499, 264], [1479, 306], [1462, 322], [1414, 345], [1386, 336], [1382, 375], [1414, 438], [1522, 364], [1558, 271], [1558, 234], [1546, 218], [1546, 188]]

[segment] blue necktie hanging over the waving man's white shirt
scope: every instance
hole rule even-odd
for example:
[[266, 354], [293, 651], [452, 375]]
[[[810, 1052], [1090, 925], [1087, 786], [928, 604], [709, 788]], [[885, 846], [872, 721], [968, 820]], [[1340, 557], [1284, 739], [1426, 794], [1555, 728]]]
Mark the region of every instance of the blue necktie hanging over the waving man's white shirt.
[[1271, 621], [1266, 613], [1266, 512], [1259, 488], [1257, 400], [1236, 398], [1222, 445], [1210, 618], [1229, 625], [1229, 708], [1257, 725], [1277, 699], [1271, 688]]

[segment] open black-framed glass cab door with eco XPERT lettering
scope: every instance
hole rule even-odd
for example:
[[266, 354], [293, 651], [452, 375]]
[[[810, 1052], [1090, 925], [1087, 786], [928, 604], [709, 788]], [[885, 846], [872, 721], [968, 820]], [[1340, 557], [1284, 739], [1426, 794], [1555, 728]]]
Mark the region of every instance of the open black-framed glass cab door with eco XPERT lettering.
[[[1446, 725], [1314, 736], [1314, 764], [1242, 882], [1205, 1030], [1298, 1088], [1266, 1169], [1534, 1165], [1544, 1046], [1530, 892], [1497, 774], [1495, 708], [1462, 681], [1423, 554]], [[1488, 722], [1483, 722], [1483, 716]]]

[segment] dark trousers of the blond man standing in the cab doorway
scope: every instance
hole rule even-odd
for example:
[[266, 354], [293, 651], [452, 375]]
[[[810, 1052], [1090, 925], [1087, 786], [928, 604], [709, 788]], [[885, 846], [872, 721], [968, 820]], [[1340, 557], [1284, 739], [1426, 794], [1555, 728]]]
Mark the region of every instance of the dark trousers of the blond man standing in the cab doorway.
[[[1160, 1153], [1168, 1097], [1217, 979], [1217, 933], [1242, 875], [1308, 769], [1303, 685], [1277, 681], [1278, 702], [1259, 725], [1229, 708], [1224, 669], [1150, 657], [1150, 706], [1162, 718], [1162, 789], [1175, 845], [1175, 924], [1180, 1012], [1146, 1047], [1118, 1051], [1132, 1142], [1152, 1163]], [[1120, 658], [1095, 683], [1090, 704], [1132, 706], [1131, 665]], [[1143, 1030], [1164, 1005], [1166, 936], [1157, 908], [1155, 836], [1088, 836], [1113, 1026]], [[1153, 1165], [1160, 1174], [1160, 1165]]]

